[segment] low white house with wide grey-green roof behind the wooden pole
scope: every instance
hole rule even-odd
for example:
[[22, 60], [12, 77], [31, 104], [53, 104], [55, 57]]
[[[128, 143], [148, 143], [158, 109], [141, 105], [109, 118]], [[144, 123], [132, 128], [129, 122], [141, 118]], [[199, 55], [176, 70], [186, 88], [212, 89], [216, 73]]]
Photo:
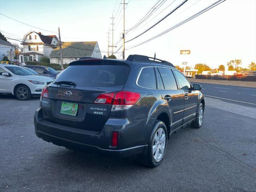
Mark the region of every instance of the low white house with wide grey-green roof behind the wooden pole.
[[[60, 50], [56, 48], [50, 54], [50, 63], [60, 64]], [[102, 58], [98, 42], [62, 42], [63, 64], [69, 64], [81, 57]]]

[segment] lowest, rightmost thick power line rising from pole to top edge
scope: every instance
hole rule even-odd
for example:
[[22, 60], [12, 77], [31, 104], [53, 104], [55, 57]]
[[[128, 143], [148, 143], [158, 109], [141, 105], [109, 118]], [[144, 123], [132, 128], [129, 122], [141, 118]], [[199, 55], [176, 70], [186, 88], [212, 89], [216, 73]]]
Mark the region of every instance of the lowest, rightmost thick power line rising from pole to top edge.
[[215, 2], [215, 3], [211, 4], [210, 6], [208, 6], [207, 8], [204, 8], [204, 9], [201, 10], [200, 12], [198, 12], [198, 13], [196, 13], [196, 14], [190, 16], [189, 18], [187, 18], [187, 19], [183, 20], [182, 22], [180, 22], [180, 23], [178, 23], [178, 24], [172, 26], [171, 28], [165, 30], [164, 32], [162, 32], [162, 33], [160, 33], [160, 34], [158, 34], [158, 35], [156, 35], [156, 36], [154, 36], [154, 37], [152, 37], [152, 38], [150, 38], [150, 39], [148, 39], [148, 40], [146, 40], [146, 41], [144, 41], [144, 42], [141, 42], [141, 43], [139, 43], [139, 44], [137, 44], [137, 45], [131, 46], [131, 47], [127, 48], [126, 50], [135, 48], [135, 47], [140, 46], [140, 45], [142, 45], [142, 44], [144, 44], [144, 43], [147, 43], [147, 42], [149, 42], [149, 41], [151, 41], [151, 40], [154, 40], [155, 38], [158, 38], [158, 37], [160, 37], [160, 36], [162, 36], [162, 35], [164, 35], [164, 34], [170, 32], [171, 30], [174, 30], [175, 28], [177, 28], [177, 27], [179, 27], [179, 26], [185, 24], [186, 22], [188, 22], [188, 21], [190, 21], [190, 20], [192, 20], [192, 19], [198, 17], [199, 15], [203, 14], [204, 12], [207, 12], [208, 10], [210, 10], [210, 9], [214, 8], [215, 6], [217, 6], [217, 5], [221, 4], [221, 3], [223, 3], [224, 1], [226, 1], [226, 0], [218, 0], [217, 2]]

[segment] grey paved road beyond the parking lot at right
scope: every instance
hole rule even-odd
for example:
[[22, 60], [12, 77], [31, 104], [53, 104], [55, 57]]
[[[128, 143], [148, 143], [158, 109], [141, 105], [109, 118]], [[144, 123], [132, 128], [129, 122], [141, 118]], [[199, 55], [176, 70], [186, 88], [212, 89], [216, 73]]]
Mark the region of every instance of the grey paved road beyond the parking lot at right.
[[[256, 88], [199, 83], [202, 93], [225, 102], [256, 108]], [[228, 99], [228, 100], [227, 100]]]

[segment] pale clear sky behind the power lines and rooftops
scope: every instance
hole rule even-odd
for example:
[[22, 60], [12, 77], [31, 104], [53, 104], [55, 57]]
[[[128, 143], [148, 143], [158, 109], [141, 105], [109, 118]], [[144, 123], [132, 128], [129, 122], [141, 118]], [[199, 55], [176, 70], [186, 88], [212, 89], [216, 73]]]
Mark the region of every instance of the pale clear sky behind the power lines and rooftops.
[[[162, 2], [163, 1], [163, 2]], [[126, 34], [130, 40], [158, 22], [184, 0], [161, 0], [162, 6], [136, 30]], [[188, 0], [170, 16], [142, 36], [127, 42], [126, 48], [163, 32], [206, 8], [217, 0]], [[122, 45], [123, 0], [0, 0], [0, 13], [41, 28], [58, 32], [62, 41], [98, 41], [102, 56], [108, 50], [108, 29], [112, 45], [112, 13], [114, 11], [114, 46]], [[158, 0], [125, 0], [125, 30], [132, 28]], [[118, 9], [119, 8], [119, 9]], [[54, 34], [0, 15], [0, 32], [9, 38], [22, 39], [30, 30], [44, 35]], [[10, 42], [14, 42], [11, 41]], [[117, 50], [114, 48], [114, 52]], [[112, 48], [109, 49], [110, 54]], [[190, 50], [190, 55], [180, 55], [180, 50]], [[121, 56], [122, 48], [115, 54]], [[211, 68], [226, 66], [230, 60], [241, 59], [242, 67], [256, 62], [256, 0], [226, 0], [182, 26], [136, 48], [125, 51], [167, 60], [174, 65], [188, 66], [205, 63]], [[122, 58], [122, 57], [120, 57]]]

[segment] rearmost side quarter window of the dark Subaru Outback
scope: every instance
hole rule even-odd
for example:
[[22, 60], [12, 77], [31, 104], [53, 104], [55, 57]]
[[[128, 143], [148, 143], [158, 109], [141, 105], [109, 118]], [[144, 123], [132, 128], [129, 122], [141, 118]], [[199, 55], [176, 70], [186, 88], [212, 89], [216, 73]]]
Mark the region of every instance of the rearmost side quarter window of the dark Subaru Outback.
[[144, 88], [156, 89], [156, 76], [153, 67], [142, 69], [138, 79], [138, 85]]

